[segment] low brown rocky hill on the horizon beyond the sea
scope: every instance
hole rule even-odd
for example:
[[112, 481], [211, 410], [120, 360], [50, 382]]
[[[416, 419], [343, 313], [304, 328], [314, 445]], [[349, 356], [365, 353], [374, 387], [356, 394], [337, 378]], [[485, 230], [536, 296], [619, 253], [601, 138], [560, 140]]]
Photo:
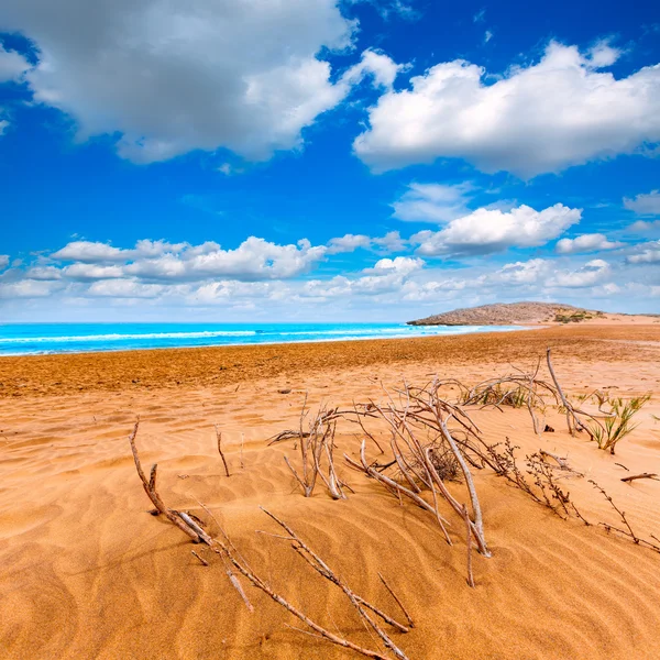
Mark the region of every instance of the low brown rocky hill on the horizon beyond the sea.
[[497, 302], [465, 307], [408, 321], [409, 326], [516, 326], [536, 323], [571, 323], [592, 319], [606, 320], [602, 311], [573, 307], [561, 302]]

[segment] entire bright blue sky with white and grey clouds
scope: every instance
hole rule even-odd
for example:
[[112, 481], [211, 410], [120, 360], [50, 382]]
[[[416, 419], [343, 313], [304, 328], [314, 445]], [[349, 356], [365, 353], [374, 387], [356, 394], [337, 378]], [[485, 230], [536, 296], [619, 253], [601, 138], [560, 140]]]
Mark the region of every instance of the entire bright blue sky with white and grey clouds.
[[3, 0], [0, 321], [660, 312], [660, 9]]

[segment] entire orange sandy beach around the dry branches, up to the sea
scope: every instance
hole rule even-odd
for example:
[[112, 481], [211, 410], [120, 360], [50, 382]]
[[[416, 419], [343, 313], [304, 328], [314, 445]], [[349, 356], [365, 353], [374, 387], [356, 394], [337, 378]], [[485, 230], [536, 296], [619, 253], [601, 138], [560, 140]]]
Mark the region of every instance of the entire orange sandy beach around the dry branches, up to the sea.
[[[354, 491], [343, 501], [322, 484], [304, 497], [284, 461], [299, 460], [294, 441], [267, 443], [297, 428], [306, 396], [312, 408], [349, 406], [380, 400], [383, 386], [404, 378], [474, 384], [512, 365], [534, 369], [548, 346], [574, 400], [595, 389], [652, 398], [615, 455], [584, 433], [571, 437], [557, 407], [544, 411], [554, 432], [541, 436], [526, 409], [471, 409], [488, 442], [509, 438], [522, 454], [568, 457], [583, 476], [560, 483], [593, 521], [561, 519], [491, 470], [476, 471], [493, 557], [474, 554], [475, 588], [466, 585], [458, 518], [447, 512], [458, 535], [450, 547], [428, 512], [346, 468], [343, 453], [359, 455], [355, 428], [338, 427], [336, 437], [338, 470]], [[167, 505], [212, 527], [206, 505], [273, 588], [355, 644], [378, 648], [343, 594], [290, 543], [255, 534], [278, 534], [260, 506], [355, 592], [398, 615], [377, 573], [387, 578], [415, 620], [408, 634], [392, 632], [410, 659], [658, 657], [660, 553], [598, 525], [620, 520], [590, 480], [640, 536], [660, 538], [660, 482], [620, 481], [660, 472], [660, 323], [3, 358], [0, 384], [1, 658], [356, 657], [293, 629], [300, 622], [245, 584], [250, 613], [217, 557], [148, 515], [128, 441], [138, 417], [142, 461], [157, 462]]]

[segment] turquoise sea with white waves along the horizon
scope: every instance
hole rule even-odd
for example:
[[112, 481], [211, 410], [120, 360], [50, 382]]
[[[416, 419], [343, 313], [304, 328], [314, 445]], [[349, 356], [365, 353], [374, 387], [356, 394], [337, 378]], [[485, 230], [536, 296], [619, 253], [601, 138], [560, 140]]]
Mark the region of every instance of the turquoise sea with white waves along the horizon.
[[0, 323], [0, 355], [397, 339], [521, 329], [405, 323]]

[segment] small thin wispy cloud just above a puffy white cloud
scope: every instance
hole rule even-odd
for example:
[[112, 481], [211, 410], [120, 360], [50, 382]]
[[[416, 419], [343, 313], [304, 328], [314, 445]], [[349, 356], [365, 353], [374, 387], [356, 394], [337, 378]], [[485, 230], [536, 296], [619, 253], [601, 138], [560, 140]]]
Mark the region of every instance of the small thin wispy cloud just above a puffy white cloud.
[[410, 184], [392, 206], [394, 217], [408, 222], [449, 222], [466, 216], [472, 184]]

